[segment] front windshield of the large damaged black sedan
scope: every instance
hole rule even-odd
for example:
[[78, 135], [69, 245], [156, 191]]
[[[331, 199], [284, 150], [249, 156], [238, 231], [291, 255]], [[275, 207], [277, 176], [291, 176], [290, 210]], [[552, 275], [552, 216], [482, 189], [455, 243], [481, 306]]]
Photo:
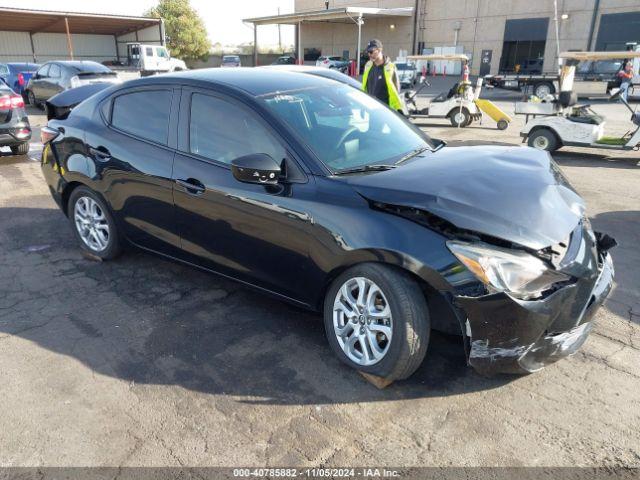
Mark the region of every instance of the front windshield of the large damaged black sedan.
[[264, 100], [333, 172], [395, 163], [416, 149], [433, 148], [417, 127], [346, 85], [270, 94]]

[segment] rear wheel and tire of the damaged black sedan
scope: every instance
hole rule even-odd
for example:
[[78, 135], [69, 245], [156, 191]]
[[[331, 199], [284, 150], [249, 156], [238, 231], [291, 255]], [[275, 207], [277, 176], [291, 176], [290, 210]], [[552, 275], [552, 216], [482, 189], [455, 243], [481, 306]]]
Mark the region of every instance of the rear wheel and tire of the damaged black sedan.
[[[94, 202], [98, 207], [96, 210], [93, 210], [93, 204], [91, 202]], [[98, 224], [107, 226], [106, 236], [104, 235], [104, 227], [93, 228], [93, 235], [91, 235], [88, 233], [91, 227], [86, 227], [86, 223], [85, 228], [81, 226], [83, 221], [78, 218], [77, 214], [81, 212], [76, 211], [77, 205], [81, 211], [84, 210], [87, 212], [85, 216], [80, 215], [81, 218], [84, 217], [87, 222], [91, 222], [91, 225], [95, 225], [96, 227]], [[93, 190], [81, 186], [71, 192], [67, 216], [83, 250], [102, 260], [111, 260], [120, 255], [122, 252], [122, 243], [116, 222], [104, 200]], [[101, 242], [102, 245], [99, 245], [98, 242]]]

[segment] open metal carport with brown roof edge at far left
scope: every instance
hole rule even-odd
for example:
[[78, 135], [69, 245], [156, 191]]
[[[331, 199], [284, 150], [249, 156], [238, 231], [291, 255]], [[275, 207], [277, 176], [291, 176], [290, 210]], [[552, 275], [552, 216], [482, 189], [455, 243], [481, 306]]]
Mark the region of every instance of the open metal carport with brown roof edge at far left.
[[[43, 57], [60, 56], [57, 51], [55, 53], [46, 51], [47, 42], [40, 42], [36, 45], [34, 43], [34, 35], [36, 34], [43, 34], [48, 39], [51, 39], [51, 35], [55, 34], [65, 35], [66, 53], [71, 59], [74, 59], [73, 35], [105, 36], [110, 38], [107, 40], [110, 48], [115, 48], [112, 56], [119, 60], [119, 44], [138, 41], [138, 32], [142, 30], [145, 31], [143, 35], [145, 42], [164, 45], [165, 35], [162, 19], [0, 7], [0, 34], [4, 34], [6, 37], [0, 38], [0, 44], [4, 44], [0, 45], [2, 47], [0, 48], [0, 60], [3, 57], [24, 57], [26, 52], [23, 53], [23, 50], [27, 48], [30, 50], [29, 54], [33, 57], [34, 62], [38, 62], [39, 55]], [[151, 33], [153, 31], [156, 33]], [[10, 35], [11, 33], [13, 35]], [[122, 37], [127, 38], [122, 40]], [[42, 51], [38, 51], [38, 46]], [[83, 55], [77, 56], [83, 57]], [[85, 55], [85, 57], [87, 56], [91, 55]]]

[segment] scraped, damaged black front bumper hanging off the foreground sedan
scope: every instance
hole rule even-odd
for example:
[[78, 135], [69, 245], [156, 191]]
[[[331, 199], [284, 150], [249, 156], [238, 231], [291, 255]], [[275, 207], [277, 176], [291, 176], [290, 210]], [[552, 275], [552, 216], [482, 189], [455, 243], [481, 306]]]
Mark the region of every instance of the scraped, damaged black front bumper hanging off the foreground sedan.
[[575, 353], [613, 285], [611, 256], [599, 253], [598, 273], [540, 300], [506, 293], [457, 296], [466, 313], [468, 362], [482, 374], [530, 373]]

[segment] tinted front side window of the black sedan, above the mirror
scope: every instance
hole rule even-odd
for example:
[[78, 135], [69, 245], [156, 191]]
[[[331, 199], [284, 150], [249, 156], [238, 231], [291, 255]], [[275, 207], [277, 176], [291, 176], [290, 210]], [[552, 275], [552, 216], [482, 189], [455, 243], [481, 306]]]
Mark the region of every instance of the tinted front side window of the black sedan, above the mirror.
[[254, 113], [199, 93], [191, 96], [189, 149], [191, 153], [226, 164], [252, 153], [266, 153], [278, 163], [286, 157], [280, 142]]

